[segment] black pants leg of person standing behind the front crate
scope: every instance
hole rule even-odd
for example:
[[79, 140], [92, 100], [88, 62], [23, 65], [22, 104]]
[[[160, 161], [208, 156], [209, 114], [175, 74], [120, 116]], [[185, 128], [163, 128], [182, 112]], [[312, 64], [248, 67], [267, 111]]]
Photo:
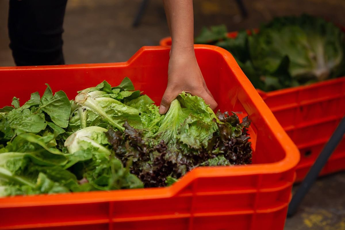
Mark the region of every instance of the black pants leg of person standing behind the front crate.
[[8, 31], [17, 66], [65, 64], [62, 24], [67, 0], [10, 0]]

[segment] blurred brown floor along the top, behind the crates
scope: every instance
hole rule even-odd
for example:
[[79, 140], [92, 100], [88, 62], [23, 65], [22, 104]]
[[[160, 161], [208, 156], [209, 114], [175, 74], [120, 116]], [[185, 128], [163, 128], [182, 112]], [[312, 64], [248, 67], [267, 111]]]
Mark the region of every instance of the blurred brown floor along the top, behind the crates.
[[[141, 0], [68, 0], [64, 53], [67, 64], [126, 61], [142, 46], [169, 36], [162, 0], [149, 0], [141, 24], [132, 22]], [[224, 23], [229, 31], [258, 27], [275, 16], [310, 13], [345, 25], [344, 0], [243, 0], [248, 18], [235, 0], [195, 0], [195, 33]], [[8, 1], [0, 0], [0, 66], [13, 66], [8, 48]]]

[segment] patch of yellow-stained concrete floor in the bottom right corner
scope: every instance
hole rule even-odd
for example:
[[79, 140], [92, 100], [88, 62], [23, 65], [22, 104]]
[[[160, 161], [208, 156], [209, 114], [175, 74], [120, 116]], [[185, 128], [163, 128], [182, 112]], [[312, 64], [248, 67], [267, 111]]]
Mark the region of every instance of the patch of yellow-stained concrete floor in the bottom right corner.
[[[298, 188], [294, 186], [294, 191]], [[345, 230], [345, 172], [319, 178], [285, 230]]]

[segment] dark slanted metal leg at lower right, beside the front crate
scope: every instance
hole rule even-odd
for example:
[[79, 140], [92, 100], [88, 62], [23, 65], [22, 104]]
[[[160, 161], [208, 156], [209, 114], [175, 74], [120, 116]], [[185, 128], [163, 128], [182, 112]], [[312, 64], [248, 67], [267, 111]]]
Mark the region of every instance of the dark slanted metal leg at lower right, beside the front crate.
[[339, 142], [343, 139], [345, 134], [345, 117], [340, 121], [338, 127], [335, 129], [329, 141], [326, 143], [325, 147], [321, 151], [320, 155], [316, 159], [313, 166], [310, 168], [307, 176], [304, 178], [303, 182], [300, 184], [295, 195], [292, 197], [290, 202], [287, 216], [291, 217], [296, 213], [296, 210], [303, 200], [309, 189], [312, 187], [314, 181], [319, 175], [322, 168], [325, 166], [328, 158], [332, 155], [334, 149], [337, 147]]

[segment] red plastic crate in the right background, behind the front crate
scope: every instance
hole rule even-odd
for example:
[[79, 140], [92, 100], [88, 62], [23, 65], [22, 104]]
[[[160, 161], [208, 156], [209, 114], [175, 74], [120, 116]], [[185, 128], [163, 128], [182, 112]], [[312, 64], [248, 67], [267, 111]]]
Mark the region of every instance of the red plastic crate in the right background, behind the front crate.
[[[250, 30], [247, 32], [251, 33]], [[227, 36], [236, 38], [237, 33], [229, 32]], [[170, 46], [171, 37], [161, 39], [160, 45]], [[309, 86], [258, 92], [301, 153], [296, 181], [302, 181], [345, 116], [345, 77]], [[345, 170], [345, 138], [320, 175], [342, 170]]]

